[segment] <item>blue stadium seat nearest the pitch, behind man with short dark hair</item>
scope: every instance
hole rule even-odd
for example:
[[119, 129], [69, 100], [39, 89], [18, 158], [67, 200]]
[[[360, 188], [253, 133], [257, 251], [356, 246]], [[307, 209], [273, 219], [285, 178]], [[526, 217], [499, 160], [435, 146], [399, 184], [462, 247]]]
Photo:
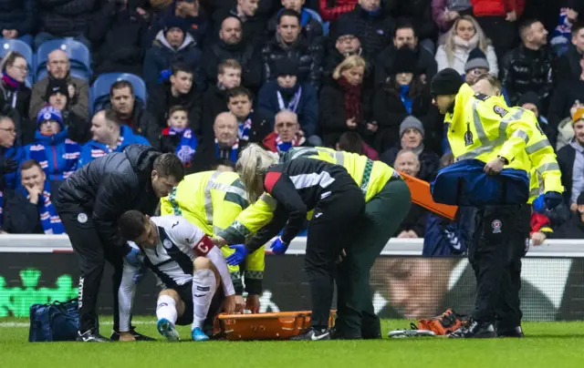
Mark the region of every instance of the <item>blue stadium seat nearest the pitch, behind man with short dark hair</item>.
[[119, 80], [127, 80], [134, 88], [134, 96], [146, 107], [148, 92], [146, 84], [141, 77], [130, 73], [107, 73], [101, 74], [91, 86], [89, 91], [89, 108], [91, 113], [98, 111], [110, 103], [110, 87]]

